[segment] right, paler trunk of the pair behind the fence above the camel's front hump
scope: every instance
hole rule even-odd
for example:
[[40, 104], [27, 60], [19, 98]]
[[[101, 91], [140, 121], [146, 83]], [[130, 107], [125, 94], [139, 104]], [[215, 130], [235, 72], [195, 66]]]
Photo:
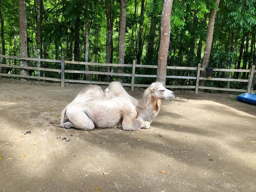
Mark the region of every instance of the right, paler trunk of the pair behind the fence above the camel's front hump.
[[[118, 64], [125, 63], [125, 22], [126, 22], [126, 0], [120, 0], [121, 15], [119, 19], [119, 41], [118, 41]], [[118, 67], [117, 72], [123, 73], [124, 67]], [[122, 82], [121, 76], [117, 78]]]

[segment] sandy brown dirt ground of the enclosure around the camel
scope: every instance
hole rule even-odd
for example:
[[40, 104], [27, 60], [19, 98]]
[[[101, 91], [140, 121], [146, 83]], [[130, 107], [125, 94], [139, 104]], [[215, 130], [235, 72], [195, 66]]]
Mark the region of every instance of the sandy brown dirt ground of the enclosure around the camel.
[[256, 106], [175, 90], [150, 129], [49, 124], [82, 87], [0, 79], [0, 192], [256, 191]]

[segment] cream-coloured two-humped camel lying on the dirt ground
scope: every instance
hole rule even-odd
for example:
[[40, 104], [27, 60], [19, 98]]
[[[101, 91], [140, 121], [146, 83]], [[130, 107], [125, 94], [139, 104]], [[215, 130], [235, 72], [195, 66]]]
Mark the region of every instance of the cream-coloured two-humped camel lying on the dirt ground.
[[[161, 100], [175, 98], [174, 93], [159, 82], [152, 83], [137, 100], [130, 96], [122, 84], [111, 82], [102, 90], [98, 85], [87, 85], [61, 112], [61, 128], [89, 131], [93, 128], [122, 128], [136, 131], [149, 128], [160, 111]], [[64, 122], [64, 117], [67, 121]]]

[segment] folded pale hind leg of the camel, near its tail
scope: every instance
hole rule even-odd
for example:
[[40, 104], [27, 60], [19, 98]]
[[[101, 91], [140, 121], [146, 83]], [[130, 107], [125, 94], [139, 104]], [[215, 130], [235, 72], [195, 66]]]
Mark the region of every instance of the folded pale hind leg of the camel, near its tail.
[[70, 113], [67, 111], [66, 115], [70, 122], [63, 123], [61, 125], [63, 128], [74, 127], [83, 131], [90, 131], [95, 127], [93, 121], [84, 111], [73, 111]]

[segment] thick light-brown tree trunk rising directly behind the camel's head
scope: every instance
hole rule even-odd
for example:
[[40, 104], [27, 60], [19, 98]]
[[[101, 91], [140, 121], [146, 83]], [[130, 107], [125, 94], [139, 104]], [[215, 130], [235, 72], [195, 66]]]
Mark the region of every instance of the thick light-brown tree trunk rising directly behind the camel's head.
[[157, 81], [163, 86], [166, 83], [166, 64], [168, 57], [168, 48], [170, 41], [170, 17], [172, 12], [172, 0], [163, 0], [163, 11], [161, 17], [161, 39], [157, 65]]

